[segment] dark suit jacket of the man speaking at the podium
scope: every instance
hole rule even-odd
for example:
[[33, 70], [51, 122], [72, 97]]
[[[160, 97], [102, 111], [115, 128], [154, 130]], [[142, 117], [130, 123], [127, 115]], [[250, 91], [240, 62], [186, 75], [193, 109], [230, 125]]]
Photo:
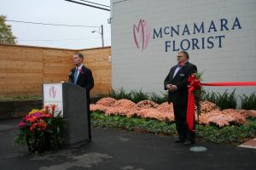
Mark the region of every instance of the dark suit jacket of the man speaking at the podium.
[[[76, 70], [76, 67], [70, 71], [68, 82], [74, 81], [75, 70]], [[90, 69], [85, 67], [84, 65], [82, 66], [82, 71], [79, 72], [77, 85], [81, 86], [82, 88], [85, 88], [86, 94], [87, 94], [87, 103], [90, 104], [90, 90], [94, 86], [94, 80], [93, 80]]]

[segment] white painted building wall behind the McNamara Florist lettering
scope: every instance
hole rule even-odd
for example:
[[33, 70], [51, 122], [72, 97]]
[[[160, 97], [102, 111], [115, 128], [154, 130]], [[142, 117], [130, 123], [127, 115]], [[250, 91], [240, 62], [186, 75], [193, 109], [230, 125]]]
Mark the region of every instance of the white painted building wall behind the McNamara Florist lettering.
[[[113, 89], [163, 92], [164, 79], [177, 64], [177, 52], [166, 52], [165, 42], [224, 35], [222, 48], [189, 48], [189, 61], [203, 72], [203, 82], [256, 81], [256, 0], [112, 0]], [[220, 19], [230, 28], [239, 20], [241, 29], [219, 31]], [[133, 41], [133, 26], [140, 19], [150, 26], [150, 40], [143, 51]], [[154, 28], [181, 27], [214, 21], [218, 31], [153, 38]], [[207, 30], [207, 29], [206, 29]], [[235, 87], [207, 88], [222, 92]], [[236, 87], [236, 94], [251, 94], [256, 87]]]

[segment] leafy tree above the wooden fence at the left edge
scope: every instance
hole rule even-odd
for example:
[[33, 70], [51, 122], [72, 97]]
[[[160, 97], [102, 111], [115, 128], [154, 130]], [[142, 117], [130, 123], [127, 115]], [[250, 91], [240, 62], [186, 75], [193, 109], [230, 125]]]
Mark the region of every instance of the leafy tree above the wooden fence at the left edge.
[[0, 15], [0, 43], [15, 44], [16, 37], [13, 35], [11, 26], [5, 23], [6, 16]]

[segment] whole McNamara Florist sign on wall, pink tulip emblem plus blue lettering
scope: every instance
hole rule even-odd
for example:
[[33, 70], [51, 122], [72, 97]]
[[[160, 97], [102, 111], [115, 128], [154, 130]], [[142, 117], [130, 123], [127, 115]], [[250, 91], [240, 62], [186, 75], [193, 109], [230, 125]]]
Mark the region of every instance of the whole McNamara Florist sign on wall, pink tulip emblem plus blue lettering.
[[[201, 21], [177, 26], [161, 26], [153, 28], [151, 35], [150, 26], [146, 20], [139, 20], [133, 25], [133, 42], [143, 51], [147, 48], [150, 37], [154, 40], [162, 40], [165, 51], [201, 50], [210, 48], [223, 48], [224, 31], [242, 29], [238, 17], [234, 19], [219, 19]], [[196, 36], [196, 37], [195, 37]], [[170, 40], [166, 41], [166, 38]]]

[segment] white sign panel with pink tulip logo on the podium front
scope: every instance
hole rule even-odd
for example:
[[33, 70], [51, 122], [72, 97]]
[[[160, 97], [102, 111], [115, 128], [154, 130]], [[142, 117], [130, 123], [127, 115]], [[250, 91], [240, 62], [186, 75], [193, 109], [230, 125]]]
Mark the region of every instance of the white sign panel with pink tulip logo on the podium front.
[[44, 84], [44, 107], [46, 105], [55, 105], [55, 116], [61, 111], [63, 116], [63, 98], [62, 84]]

